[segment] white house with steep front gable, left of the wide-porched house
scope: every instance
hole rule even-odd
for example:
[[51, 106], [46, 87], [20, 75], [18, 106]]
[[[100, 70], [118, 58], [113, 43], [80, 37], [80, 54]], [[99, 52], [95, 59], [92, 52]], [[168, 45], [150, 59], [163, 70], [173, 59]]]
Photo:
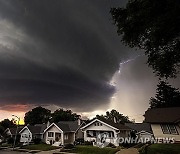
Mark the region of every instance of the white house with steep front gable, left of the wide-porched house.
[[52, 123], [44, 131], [44, 141], [54, 146], [73, 144], [77, 138], [83, 138], [81, 126], [79, 120]]

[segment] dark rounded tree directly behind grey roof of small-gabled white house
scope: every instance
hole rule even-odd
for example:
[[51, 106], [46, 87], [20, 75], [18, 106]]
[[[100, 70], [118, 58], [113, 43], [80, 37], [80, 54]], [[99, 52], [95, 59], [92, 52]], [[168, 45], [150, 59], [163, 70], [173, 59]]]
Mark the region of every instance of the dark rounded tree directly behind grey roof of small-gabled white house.
[[80, 117], [76, 113], [73, 113], [71, 110], [64, 110], [62, 108], [54, 111], [52, 114], [52, 122], [59, 122], [59, 121], [75, 121]]

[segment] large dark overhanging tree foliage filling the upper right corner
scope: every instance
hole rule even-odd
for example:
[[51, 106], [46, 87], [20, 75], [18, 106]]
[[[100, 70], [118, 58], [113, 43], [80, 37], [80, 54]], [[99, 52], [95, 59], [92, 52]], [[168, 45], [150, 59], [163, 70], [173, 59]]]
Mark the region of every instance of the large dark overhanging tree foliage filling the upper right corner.
[[142, 49], [159, 77], [176, 77], [180, 66], [180, 1], [129, 0], [110, 10], [118, 35], [130, 47]]

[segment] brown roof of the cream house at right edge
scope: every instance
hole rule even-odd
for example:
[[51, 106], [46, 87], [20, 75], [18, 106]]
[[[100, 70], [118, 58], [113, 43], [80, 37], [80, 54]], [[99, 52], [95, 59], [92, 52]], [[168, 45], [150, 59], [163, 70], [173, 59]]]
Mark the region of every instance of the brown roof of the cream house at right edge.
[[155, 108], [145, 112], [147, 123], [177, 123], [180, 121], [180, 107]]

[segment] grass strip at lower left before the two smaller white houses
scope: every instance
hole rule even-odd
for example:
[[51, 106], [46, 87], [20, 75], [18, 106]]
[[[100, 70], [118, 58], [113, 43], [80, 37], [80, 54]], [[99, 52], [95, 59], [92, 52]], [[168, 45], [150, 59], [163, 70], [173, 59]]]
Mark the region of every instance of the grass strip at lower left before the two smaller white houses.
[[41, 150], [41, 151], [48, 151], [48, 150], [54, 150], [58, 147], [51, 146], [49, 144], [32, 144], [32, 145], [25, 145], [22, 147], [22, 149], [28, 149], [28, 150]]

